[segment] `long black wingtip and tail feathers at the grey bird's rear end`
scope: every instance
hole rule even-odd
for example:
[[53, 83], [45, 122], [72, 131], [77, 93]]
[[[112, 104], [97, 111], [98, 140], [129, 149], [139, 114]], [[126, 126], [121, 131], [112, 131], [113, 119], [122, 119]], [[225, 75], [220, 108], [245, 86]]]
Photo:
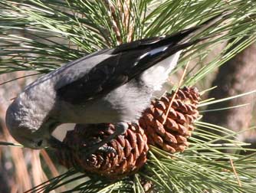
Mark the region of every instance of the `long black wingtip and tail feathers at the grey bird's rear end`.
[[139, 58], [138, 63], [130, 69], [129, 74], [133, 74], [130, 79], [141, 74], [144, 70], [149, 67], [153, 67], [155, 64], [158, 64], [160, 61], [166, 59], [172, 54], [185, 49], [186, 47], [197, 44], [200, 41], [203, 41], [211, 37], [195, 38], [196, 35], [202, 33], [206, 29], [216, 25], [219, 21], [222, 21], [222, 18], [230, 14], [230, 11], [224, 11], [221, 14], [210, 18], [208, 21], [205, 21], [199, 26], [195, 26], [183, 31], [179, 31], [176, 34], [170, 34], [163, 37], [148, 38], [139, 41], [133, 41], [128, 44], [122, 44], [119, 47], [115, 48], [113, 54], [130, 51], [137, 49], [147, 50], [148, 52]]

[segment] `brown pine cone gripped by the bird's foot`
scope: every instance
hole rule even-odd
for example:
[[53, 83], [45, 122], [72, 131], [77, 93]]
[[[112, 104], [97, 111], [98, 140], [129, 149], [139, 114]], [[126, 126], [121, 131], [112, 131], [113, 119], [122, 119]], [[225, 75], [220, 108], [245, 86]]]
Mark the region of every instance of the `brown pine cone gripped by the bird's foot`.
[[77, 125], [74, 130], [67, 132], [64, 144], [73, 151], [58, 151], [58, 158], [67, 168], [79, 167], [80, 171], [102, 175], [108, 178], [121, 178], [131, 175], [146, 162], [146, 135], [138, 125], [129, 124], [126, 133], [106, 145], [116, 149], [114, 153], [97, 152], [86, 157], [82, 152], [83, 146], [93, 145], [115, 131], [112, 124]]

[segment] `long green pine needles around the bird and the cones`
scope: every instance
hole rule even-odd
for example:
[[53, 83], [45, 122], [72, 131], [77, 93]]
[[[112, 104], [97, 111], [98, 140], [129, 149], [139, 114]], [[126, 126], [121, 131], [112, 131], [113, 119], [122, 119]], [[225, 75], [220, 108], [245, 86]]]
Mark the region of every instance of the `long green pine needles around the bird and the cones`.
[[[172, 34], [228, 11], [221, 21], [194, 37], [212, 38], [183, 51], [177, 69], [232, 40], [212, 61], [189, 68], [184, 85], [192, 86], [205, 81], [207, 74], [255, 41], [255, 1], [2, 0], [0, 8], [1, 74], [19, 70], [48, 73], [84, 54], [139, 38]], [[248, 38], [241, 41], [245, 36]], [[206, 100], [201, 106], [216, 102], [221, 100]], [[86, 174], [71, 170], [29, 192], [48, 192], [67, 184], [74, 187], [64, 192], [146, 192], [142, 179], [153, 183], [152, 192], [254, 192], [255, 154], [221, 151], [247, 151], [247, 144], [229, 139], [236, 133], [221, 126], [200, 121], [196, 125], [189, 149], [169, 155], [152, 146], [149, 161], [134, 176], [110, 182], [85, 178]], [[225, 136], [212, 134], [211, 129]], [[225, 143], [216, 144], [219, 139]]]

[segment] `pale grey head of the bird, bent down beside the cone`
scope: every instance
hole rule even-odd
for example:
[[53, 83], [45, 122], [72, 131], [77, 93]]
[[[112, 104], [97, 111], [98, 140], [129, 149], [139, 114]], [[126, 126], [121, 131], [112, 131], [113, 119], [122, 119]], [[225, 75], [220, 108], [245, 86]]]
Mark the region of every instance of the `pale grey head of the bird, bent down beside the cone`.
[[55, 146], [56, 141], [53, 140], [51, 132], [57, 127], [57, 122], [43, 119], [40, 113], [37, 113], [33, 108], [25, 106], [19, 98], [11, 103], [5, 116], [11, 136], [21, 145], [31, 149]]

